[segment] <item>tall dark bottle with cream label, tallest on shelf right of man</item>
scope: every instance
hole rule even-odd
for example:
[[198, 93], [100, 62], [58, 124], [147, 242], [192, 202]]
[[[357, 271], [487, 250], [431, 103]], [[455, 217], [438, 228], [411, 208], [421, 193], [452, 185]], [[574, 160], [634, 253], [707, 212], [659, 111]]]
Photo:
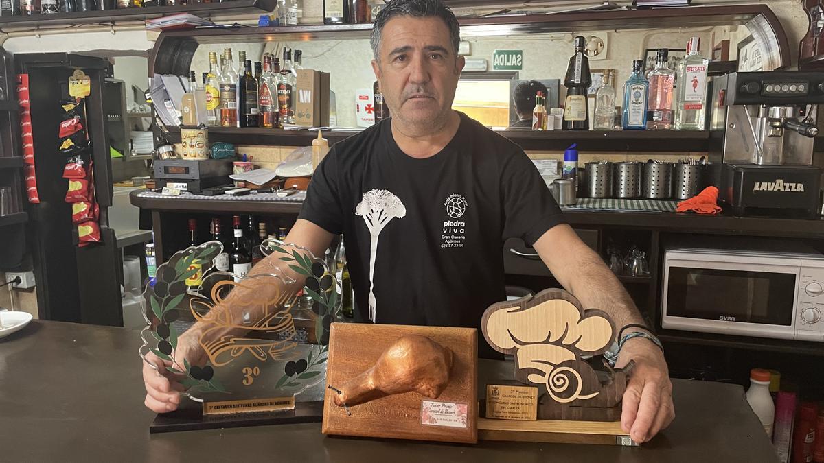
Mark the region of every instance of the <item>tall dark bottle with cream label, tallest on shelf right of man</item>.
[[564, 87], [567, 87], [564, 130], [589, 129], [587, 89], [592, 85], [592, 77], [589, 75], [589, 58], [584, 53], [584, 44], [586, 39], [583, 36], [575, 37], [575, 54], [569, 58], [569, 66], [564, 77]]

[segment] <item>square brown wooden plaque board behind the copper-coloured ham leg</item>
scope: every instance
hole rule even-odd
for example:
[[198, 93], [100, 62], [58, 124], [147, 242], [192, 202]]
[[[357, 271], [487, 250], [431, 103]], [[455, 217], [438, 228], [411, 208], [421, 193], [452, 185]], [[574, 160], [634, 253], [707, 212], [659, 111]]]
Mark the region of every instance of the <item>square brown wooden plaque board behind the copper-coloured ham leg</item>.
[[478, 335], [473, 328], [333, 323], [326, 381], [341, 387], [371, 368], [397, 339], [418, 334], [452, 351], [447, 387], [437, 398], [418, 392], [385, 395], [360, 405], [335, 405], [326, 390], [323, 433], [442, 442], [477, 442]]

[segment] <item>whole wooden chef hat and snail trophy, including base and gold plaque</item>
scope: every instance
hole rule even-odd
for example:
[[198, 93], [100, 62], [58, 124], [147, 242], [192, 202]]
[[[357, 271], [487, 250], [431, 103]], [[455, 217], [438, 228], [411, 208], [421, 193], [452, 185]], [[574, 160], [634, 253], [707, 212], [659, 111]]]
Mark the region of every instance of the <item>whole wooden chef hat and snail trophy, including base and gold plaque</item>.
[[634, 363], [611, 368], [600, 357], [616, 336], [606, 312], [546, 289], [489, 306], [481, 330], [492, 348], [513, 355], [515, 381], [487, 385], [479, 438], [632, 445], [620, 409]]

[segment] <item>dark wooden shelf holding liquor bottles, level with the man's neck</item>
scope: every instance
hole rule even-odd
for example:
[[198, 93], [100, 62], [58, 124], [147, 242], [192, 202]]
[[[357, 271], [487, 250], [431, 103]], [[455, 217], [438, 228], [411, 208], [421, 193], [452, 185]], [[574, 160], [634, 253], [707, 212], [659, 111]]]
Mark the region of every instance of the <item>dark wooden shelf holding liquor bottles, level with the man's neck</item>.
[[[209, 142], [225, 142], [242, 145], [268, 145], [302, 147], [311, 143], [317, 133], [309, 130], [261, 129], [248, 127], [209, 127]], [[358, 132], [330, 130], [323, 136], [330, 145], [349, 138]], [[633, 151], [662, 152], [672, 150], [673, 143], [679, 151], [705, 152], [709, 144], [709, 132], [705, 130], [611, 130], [567, 131], [550, 130], [502, 130], [497, 132], [517, 143], [525, 150], [564, 150], [578, 143], [582, 151]], [[172, 143], [180, 143], [180, 128], [169, 128]]]

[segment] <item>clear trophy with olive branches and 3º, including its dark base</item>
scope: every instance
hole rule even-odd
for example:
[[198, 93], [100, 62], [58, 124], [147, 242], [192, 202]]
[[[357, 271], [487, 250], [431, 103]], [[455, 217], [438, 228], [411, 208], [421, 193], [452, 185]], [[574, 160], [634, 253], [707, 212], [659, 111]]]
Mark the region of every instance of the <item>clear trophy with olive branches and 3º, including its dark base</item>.
[[[140, 355], [153, 367], [165, 360], [192, 400], [158, 415], [152, 432], [320, 421], [330, 324], [340, 319], [335, 275], [309, 250], [260, 246], [274, 254], [255, 266], [263, 273], [213, 269], [222, 244], [208, 241], [176, 252], [147, 285]], [[276, 289], [261, 294], [252, 281]]]

